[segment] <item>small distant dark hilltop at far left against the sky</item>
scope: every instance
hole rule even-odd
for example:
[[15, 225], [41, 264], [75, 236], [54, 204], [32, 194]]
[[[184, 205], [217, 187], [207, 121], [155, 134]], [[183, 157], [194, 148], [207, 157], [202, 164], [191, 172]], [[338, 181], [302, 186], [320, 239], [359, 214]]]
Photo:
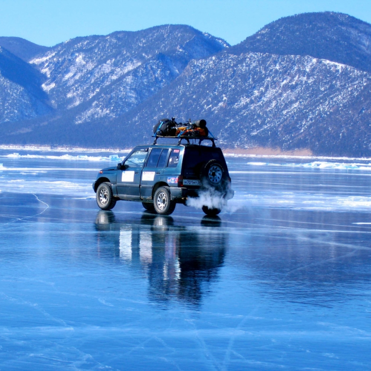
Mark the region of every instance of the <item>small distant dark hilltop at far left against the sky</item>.
[[35, 58], [36, 55], [46, 53], [50, 48], [47, 46], [37, 45], [21, 37], [0, 37], [0, 46], [9, 50], [13, 55], [28, 62]]

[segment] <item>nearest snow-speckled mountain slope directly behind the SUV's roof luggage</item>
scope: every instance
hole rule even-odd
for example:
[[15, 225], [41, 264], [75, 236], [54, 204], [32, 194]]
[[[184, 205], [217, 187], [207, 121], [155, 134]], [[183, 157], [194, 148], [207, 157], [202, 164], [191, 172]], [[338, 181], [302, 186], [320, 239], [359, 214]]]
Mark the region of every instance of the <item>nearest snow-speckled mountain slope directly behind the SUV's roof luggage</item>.
[[148, 142], [149, 123], [159, 117], [184, 122], [191, 112], [192, 119], [210, 123], [224, 148], [370, 156], [370, 107], [371, 74], [351, 66], [309, 56], [219, 54], [190, 62], [166, 92], [111, 122], [111, 128], [118, 138], [131, 131], [128, 141], [134, 145], [146, 137]]

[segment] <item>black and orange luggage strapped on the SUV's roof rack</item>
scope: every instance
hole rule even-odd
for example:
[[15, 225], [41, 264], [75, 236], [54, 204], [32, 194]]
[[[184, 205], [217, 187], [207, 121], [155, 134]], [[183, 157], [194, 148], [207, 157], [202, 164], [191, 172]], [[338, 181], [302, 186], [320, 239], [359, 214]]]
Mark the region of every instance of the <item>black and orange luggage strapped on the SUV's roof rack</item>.
[[199, 144], [206, 139], [210, 140], [215, 147], [215, 140], [217, 140], [206, 127], [206, 120], [203, 119], [194, 122], [189, 119], [184, 124], [181, 122], [178, 124], [174, 117], [171, 120], [163, 118], [153, 127], [153, 133], [154, 144], [157, 143], [157, 138], [177, 138], [179, 139], [178, 144], [181, 143], [182, 139], [185, 139], [188, 144], [190, 144], [190, 139], [198, 139]]

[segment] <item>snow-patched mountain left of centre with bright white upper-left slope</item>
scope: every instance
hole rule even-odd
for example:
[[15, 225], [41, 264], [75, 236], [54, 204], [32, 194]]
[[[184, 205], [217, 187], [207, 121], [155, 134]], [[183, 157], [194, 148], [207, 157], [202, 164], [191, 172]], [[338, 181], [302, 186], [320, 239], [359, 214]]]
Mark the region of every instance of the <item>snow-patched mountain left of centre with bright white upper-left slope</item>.
[[190, 26], [77, 37], [32, 59], [58, 110], [81, 106], [76, 124], [117, 117], [167, 86], [191, 59], [229, 46]]

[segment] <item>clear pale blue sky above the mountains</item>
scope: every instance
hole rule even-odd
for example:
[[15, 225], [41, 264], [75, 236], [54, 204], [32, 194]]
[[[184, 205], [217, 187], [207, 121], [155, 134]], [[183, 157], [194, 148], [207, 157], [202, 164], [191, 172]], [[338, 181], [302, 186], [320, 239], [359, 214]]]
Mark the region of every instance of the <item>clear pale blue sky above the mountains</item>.
[[173, 23], [234, 45], [280, 17], [325, 10], [371, 23], [371, 0], [0, 0], [0, 36], [52, 46], [76, 36]]

